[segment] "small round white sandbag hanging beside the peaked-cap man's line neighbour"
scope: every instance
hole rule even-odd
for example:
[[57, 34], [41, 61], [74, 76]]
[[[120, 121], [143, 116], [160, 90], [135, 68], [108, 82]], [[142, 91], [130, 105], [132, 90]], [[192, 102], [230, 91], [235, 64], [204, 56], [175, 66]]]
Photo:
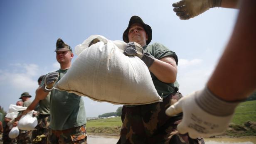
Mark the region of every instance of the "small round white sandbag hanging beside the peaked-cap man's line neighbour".
[[37, 126], [37, 118], [33, 117], [34, 110], [28, 112], [26, 115], [23, 115], [19, 122], [18, 127], [22, 130], [34, 130], [34, 127]]

